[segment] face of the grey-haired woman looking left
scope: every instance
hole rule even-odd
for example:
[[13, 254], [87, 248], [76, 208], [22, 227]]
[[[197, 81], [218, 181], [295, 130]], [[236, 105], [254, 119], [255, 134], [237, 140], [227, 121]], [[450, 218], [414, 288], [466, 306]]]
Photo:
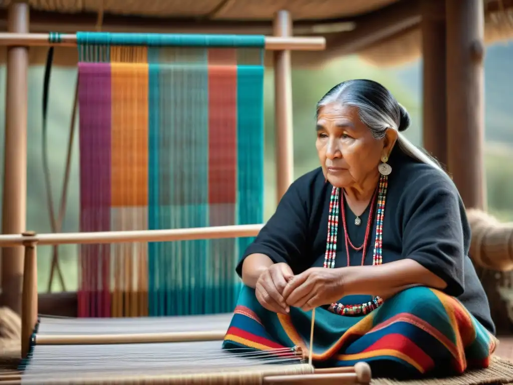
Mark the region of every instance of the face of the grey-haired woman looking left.
[[357, 108], [331, 103], [319, 111], [315, 146], [324, 176], [333, 186], [361, 186], [376, 176], [381, 157], [389, 153], [387, 141], [372, 136]]

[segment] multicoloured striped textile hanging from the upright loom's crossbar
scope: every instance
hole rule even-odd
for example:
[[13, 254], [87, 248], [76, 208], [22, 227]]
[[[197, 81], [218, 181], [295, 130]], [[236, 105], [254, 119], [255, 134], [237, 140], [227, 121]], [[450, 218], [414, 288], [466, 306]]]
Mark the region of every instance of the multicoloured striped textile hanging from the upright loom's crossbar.
[[[81, 232], [263, 222], [263, 36], [77, 44]], [[78, 316], [230, 312], [250, 241], [83, 245]]]

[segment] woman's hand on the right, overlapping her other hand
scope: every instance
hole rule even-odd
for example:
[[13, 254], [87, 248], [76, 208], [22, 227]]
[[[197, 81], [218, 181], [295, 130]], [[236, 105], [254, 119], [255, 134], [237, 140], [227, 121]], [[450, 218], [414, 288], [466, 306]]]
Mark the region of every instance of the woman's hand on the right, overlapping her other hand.
[[288, 282], [283, 297], [287, 305], [308, 311], [340, 300], [343, 283], [342, 268], [311, 267]]

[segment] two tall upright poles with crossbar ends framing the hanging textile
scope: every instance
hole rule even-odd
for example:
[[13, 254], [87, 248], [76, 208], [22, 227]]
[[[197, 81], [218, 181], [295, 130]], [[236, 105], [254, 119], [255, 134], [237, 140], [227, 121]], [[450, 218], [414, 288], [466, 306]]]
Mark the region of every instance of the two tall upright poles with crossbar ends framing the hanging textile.
[[[8, 10], [9, 28], [0, 33], [0, 45], [8, 47], [5, 189], [2, 231], [21, 234], [26, 230], [27, 185], [27, 113], [28, 49], [31, 46], [76, 46], [76, 35], [60, 34], [58, 42], [50, 33], [30, 33], [30, 7], [25, 1], [14, 2]], [[50, 43], [51, 42], [51, 43]], [[291, 50], [324, 50], [325, 37], [292, 36], [292, 18], [288, 11], [278, 11], [274, 35], [265, 37], [265, 50], [274, 54], [275, 124], [277, 144], [277, 200], [293, 181]], [[278, 151], [280, 149], [280, 151]], [[15, 218], [13, 220], [12, 218]], [[15, 312], [21, 312], [23, 252], [19, 247], [4, 246], [2, 258], [2, 300]]]

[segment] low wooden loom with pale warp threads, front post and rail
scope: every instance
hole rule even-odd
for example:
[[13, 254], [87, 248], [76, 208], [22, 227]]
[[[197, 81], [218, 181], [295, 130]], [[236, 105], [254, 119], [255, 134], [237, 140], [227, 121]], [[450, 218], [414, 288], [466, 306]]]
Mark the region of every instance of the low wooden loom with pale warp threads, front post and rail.
[[[22, 355], [18, 384], [368, 384], [370, 367], [315, 369], [307, 347], [269, 351], [221, 350], [231, 314], [139, 317], [37, 317], [36, 245], [222, 239], [258, 233], [260, 225], [145, 232], [2, 235], [0, 245], [25, 247]], [[310, 336], [310, 345], [313, 338]]]

